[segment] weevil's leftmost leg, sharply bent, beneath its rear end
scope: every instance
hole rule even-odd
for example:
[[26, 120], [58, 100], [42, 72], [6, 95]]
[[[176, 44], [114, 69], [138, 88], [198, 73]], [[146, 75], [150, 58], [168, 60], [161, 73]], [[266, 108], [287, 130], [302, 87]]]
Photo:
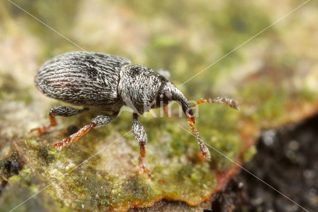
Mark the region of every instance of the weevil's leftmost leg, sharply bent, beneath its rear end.
[[29, 133], [33, 132], [33, 131], [38, 131], [39, 134], [44, 133], [46, 130], [48, 130], [50, 127], [52, 126], [56, 126], [56, 120], [55, 120], [55, 116], [72, 116], [72, 115], [77, 115], [83, 111], [86, 111], [88, 108], [84, 108], [84, 109], [75, 109], [72, 107], [68, 107], [68, 106], [54, 106], [50, 109], [49, 112], [49, 120], [50, 123], [46, 124], [44, 126], [38, 127], [38, 128], [34, 128], [31, 129], [29, 131]]

